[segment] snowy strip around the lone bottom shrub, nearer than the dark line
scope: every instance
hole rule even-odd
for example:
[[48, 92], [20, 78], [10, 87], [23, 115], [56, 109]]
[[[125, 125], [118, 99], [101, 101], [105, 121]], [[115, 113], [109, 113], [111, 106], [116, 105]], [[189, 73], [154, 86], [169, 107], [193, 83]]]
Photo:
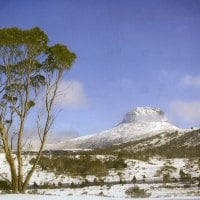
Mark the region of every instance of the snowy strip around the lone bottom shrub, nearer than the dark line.
[[[126, 190], [132, 187], [133, 184], [118, 184], [113, 186], [90, 186], [84, 188], [65, 188], [65, 189], [49, 189], [49, 190], [38, 190], [38, 194], [42, 195], [53, 195], [53, 196], [99, 196], [99, 197], [109, 197], [113, 199], [125, 199], [130, 198], [126, 194]], [[145, 189], [147, 193], [150, 193], [150, 198], [191, 198], [199, 197], [200, 192], [199, 187], [194, 186], [191, 188], [184, 188], [183, 185], [179, 184], [168, 184], [163, 186], [163, 184], [138, 184], [140, 189]], [[28, 191], [32, 192], [32, 191]]]

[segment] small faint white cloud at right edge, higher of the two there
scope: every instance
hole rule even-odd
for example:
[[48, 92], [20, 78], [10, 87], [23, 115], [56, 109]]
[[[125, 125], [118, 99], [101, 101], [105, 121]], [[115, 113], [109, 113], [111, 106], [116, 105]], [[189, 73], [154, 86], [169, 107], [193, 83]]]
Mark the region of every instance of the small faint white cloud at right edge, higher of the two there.
[[200, 88], [200, 76], [186, 75], [180, 81], [180, 85]]

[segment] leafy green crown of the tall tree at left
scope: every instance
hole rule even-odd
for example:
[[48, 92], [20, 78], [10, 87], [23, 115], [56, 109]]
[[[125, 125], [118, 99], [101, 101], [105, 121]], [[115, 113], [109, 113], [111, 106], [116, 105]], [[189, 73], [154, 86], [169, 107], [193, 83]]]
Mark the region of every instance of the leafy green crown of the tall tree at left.
[[[76, 55], [63, 44], [48, 46], [48, 41], [39, 27], [0, 29], [0, 103], [20, 109], [25, 99], [35, 99], [47, 82], [55, 84], [58, 75], [71, 68]], [[27, 110], [34, 105], [29, 101]]]

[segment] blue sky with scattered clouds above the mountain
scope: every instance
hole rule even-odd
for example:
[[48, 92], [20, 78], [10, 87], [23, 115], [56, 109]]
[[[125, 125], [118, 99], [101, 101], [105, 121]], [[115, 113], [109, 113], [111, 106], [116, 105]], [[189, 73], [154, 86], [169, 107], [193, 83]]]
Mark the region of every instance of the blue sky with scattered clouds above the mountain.
[[137, 106], [200, 126], [200, 0], [0, 0], [0, 19], [77, 54], [57, 132], [105, 130]]

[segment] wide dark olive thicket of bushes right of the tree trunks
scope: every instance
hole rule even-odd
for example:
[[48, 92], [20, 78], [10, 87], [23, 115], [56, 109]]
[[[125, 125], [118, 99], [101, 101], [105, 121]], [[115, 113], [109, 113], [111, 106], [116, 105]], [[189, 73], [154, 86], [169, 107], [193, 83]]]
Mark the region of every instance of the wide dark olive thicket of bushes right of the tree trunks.
[[[34, 162], [34, 158], [30, 161]], [[79, 158], [73, 156], [48, 156], [41, 157], [39, 163], [43, 170], [54, 171], [56, 174], [70, 174], [72, 176], [96, 175], [106, 176], [111, 168], [122, 169], [127, 167], [121, 158], [114, 160], [94, 159], [89, 155], [82, 155]]]

